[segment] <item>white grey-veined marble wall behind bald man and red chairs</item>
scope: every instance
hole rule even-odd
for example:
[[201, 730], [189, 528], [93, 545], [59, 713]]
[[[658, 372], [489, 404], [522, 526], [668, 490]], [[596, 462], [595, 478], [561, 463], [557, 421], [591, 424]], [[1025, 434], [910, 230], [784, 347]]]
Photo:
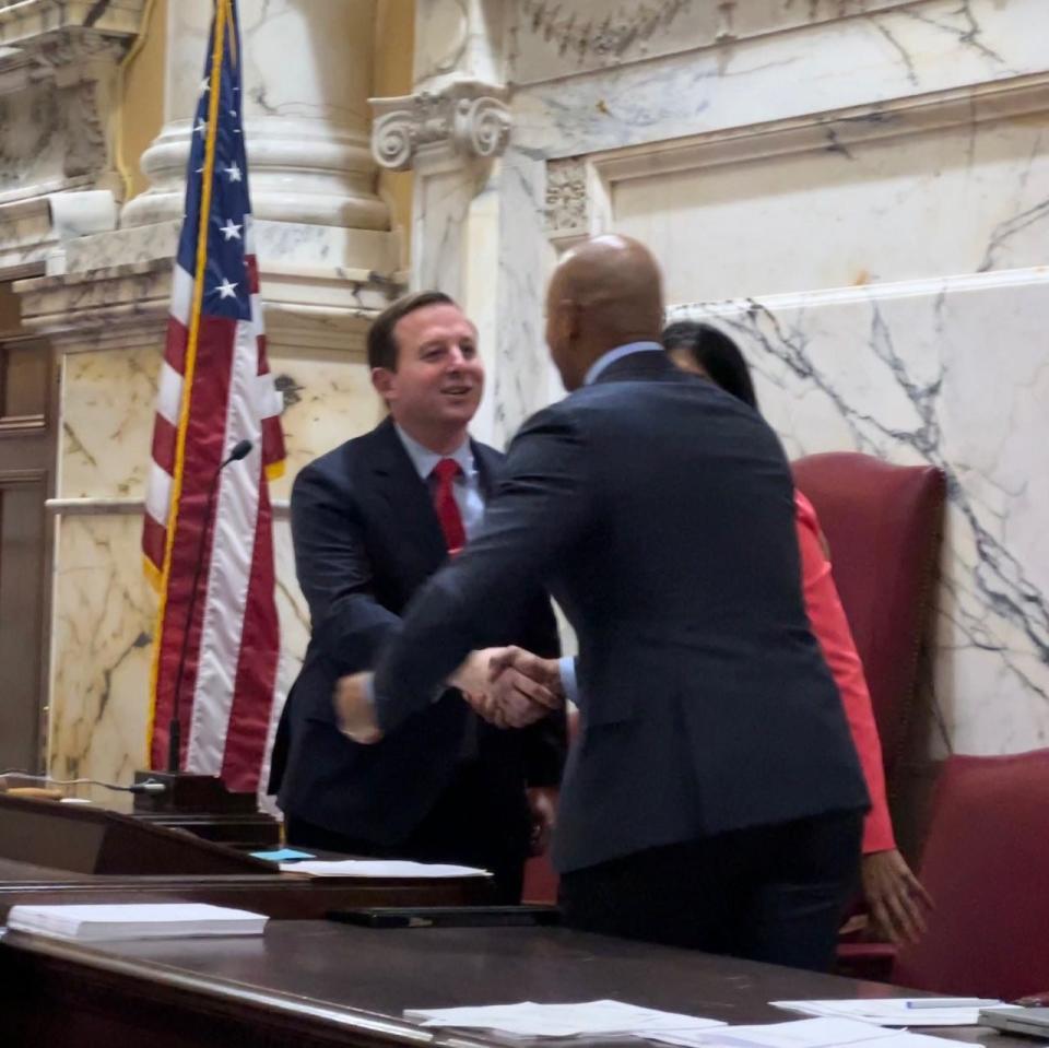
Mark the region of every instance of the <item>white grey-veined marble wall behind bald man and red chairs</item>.
[[790, 455], [946, 473], [934, 757], [1049, 744], [1047, 34], [1037, 0], [519, 0], [506, 42], [506, 432], [552, 248], [648, 243], [670, 315], [740, 340]]

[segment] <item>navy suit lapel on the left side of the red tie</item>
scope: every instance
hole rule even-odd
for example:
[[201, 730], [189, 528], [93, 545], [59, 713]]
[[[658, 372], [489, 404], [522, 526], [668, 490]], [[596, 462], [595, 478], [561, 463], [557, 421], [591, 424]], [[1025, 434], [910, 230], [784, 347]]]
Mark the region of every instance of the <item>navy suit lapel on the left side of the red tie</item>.
[[376, 494], [390, 516], [389, 533], [398, 535], [398, 546], [404, 543], [406, 549], [417, 550], [427, 572], [433, 572], [448, 553], [429, 490], [415, 471], [393, 422], [387, 419], [374, 434], [372, 475]]

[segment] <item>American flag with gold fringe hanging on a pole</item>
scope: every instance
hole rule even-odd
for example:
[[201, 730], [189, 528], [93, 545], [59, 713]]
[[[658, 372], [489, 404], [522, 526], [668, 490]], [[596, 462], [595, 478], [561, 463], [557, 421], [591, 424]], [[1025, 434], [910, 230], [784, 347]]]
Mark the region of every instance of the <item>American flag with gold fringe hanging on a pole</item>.
[[[161, 593], [152, 766], [166, 766], [181, 664], [179, 767], [254, 791], [280, 647], [268, 478], [282, 471], [284, 438], [262, 332], [239, 40], [235, 0], [216, 0], [193, 119], [142, 547]], [[220, 473], [244, 439], [252, 444], [247, 458]]]

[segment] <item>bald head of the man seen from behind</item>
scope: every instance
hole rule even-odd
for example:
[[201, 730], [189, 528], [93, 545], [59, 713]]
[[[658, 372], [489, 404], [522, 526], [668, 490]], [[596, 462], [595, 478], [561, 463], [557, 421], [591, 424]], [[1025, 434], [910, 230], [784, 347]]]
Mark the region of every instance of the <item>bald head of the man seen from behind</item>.
[[659, 341], [663, 290], [643, 244], [599, 236], [567, 251], [546, 294], [546, 341], [566, 389], [582, 385], [590, 365], [628, 342]]

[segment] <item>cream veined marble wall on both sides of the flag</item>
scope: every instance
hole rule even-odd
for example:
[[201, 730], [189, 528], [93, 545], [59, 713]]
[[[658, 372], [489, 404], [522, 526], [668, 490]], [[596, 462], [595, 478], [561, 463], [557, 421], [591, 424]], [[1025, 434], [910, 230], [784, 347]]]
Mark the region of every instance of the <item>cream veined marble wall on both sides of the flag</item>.
[[[61, 777], [127, 781], [145, 767], [156, 598], [142, 573], [140, 499], [145, 486], [161, 351], [90, 349], [66, 357], [59, 498], [96, 511], [61, 516], [55, 578], [49, 763]], [[271, 485], [286, 505], [298, 470], [374, 426], [380, 405], [360, 356], [271, 348], [283, 391], [285, 475]], [[122, 511], [106, 499], [127, 499]], [[274, 527], [281, 694], [298, 672], [309, 612], [295, 581], [286, 513]]]

